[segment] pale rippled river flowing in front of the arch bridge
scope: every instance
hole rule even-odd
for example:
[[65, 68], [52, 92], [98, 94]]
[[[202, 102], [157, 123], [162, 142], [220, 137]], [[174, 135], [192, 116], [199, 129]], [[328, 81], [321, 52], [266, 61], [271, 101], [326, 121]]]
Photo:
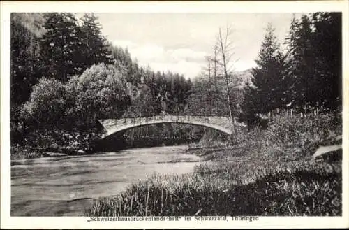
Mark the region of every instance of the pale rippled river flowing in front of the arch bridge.
[[187, 146], [11, 161], [12, 216], [80, 216], [99, 196], [118, 194], [154, 173], [190, 173]]

